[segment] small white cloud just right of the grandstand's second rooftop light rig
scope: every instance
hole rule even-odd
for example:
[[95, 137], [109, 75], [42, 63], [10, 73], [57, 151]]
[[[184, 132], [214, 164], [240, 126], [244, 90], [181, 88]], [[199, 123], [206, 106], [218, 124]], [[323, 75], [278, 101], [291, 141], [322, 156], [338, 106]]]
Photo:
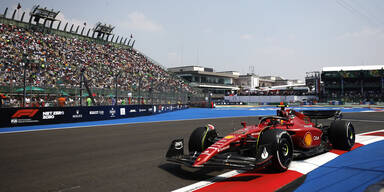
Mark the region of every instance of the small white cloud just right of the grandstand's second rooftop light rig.
[[128, 19], [119, 25], [133, 31], [158, 32], [164, 30], [162, 25], [157, 24], [143, 13], [137, 11], [128, 14]]

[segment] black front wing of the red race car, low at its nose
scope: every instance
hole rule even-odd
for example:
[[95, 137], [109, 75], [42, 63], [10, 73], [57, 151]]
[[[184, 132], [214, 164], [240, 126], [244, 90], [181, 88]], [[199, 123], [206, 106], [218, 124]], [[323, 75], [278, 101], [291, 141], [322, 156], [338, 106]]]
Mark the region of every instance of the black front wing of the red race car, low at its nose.
[[[271, 146], [261, 145], [254, 157], [244, 157], [231, 152], [219, 153], [205, 162], [202, 167], [253, 170], [268, 166], [271, 163], [272, 154]], [[198, 152], [185, 155], [184, 140], [176, 139], [169, 146], [166, 159], [170, 162], [194, 167], [193, 164], [199, 155]]]

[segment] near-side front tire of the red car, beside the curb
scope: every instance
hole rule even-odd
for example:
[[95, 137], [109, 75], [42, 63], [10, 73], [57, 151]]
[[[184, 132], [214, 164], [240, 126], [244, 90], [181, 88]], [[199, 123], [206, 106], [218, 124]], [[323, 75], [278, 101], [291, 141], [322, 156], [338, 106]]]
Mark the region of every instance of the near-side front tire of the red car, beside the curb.
[[269, 129], [262, 132], [258, 146], [270, 145], [272, 149], [272, 163], [269, 168], [277, 172], [288, 169], [293, 159], [293, 143], [287, 131]]

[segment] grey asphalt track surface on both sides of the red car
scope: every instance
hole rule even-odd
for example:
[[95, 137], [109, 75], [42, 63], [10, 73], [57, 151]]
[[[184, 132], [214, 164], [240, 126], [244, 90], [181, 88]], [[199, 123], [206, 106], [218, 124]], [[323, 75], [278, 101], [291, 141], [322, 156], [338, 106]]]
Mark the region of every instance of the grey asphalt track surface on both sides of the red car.
[[[384, 127], [383, 112], [344, 113], [357, 133]], [[172, 139], [211, 123], [220, 135], [257, 117], [168, 121], [0, 134], [0, 191], [171, 191], [228, 170], [165, 161]]]

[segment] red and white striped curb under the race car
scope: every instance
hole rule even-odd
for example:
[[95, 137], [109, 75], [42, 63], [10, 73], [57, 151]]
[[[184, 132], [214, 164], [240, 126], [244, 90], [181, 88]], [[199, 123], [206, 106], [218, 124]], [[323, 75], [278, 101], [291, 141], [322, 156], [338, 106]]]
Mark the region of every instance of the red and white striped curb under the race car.
[[[356, 149], [363, 145], [384, 140], [384, 129], [356, 135]], [[330, 152], [300, 161], [292, 161], [289, 169], [283, 173], [263, 173], [250, 171], [229, 171], [207, 181], [200, 181], [192, 185], [174, 190], [174, 192], [190, 191], [275, 191], [295, 179], [308, 174], [319, 166], [346, 153], [341, 150]]]

